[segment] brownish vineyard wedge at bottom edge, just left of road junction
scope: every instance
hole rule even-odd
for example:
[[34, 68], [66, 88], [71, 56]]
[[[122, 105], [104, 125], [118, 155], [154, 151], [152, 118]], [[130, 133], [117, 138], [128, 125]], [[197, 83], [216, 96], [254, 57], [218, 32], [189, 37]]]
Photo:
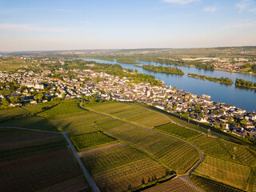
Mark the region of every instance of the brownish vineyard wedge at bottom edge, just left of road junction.
[[157, 186], [150, 187], [143, 192], [198, 192], [193, 186], [190, 186], [187, 182], [184, 182], [180, 178], [173, 178], [168, 182], [163, 182]]

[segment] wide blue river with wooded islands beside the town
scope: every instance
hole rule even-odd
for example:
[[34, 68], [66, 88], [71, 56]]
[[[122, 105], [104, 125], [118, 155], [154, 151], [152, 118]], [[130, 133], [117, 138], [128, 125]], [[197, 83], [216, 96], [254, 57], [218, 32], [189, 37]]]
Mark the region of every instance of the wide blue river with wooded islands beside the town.
[[[214, 102], [223, 102], [226, 104], [230, 104], [232, 106], [237, 106], [243, 110], [247, 110], [250, 112], [256, 111], [256, 90], [248, 90], [248, 89], [239, 89], [234, 86], [226, 86], [224, 84], [220, 84], [218, 82], [210, 82], [204, 81], [202, 79], [197, 78], [190, 78], [187, 76], [188, 73], [190, 74], [202, 74], [209, 77], [216, 77], [216, 78], [231, 78], [233, 82], [235, 82], [236, 78], [243, 78], [246, 81], [256, 82], [256, 76], [250, 74], [238, 74], [238, 73], [230, 73], [223, 70], [202, 70], [194, 67], [188, 66], [177, 66], [178, 69], [184, 71], [184, 75], [177, 75], [177, 74], [164, 74], [158, 73], [154, 71], [144, 70], [142, 67], [134, 66], [134, 64], [129, 63], [120, 63], [120, 62], [110, 62], [106, 60], [99, 60], [99, 59], [87, 59], [86, 61], [94, 61], [99, 63], [109, 63], [109, 64], [119, 64], [123, 68], [126, 69], [133, 69], [138, 70], [139, 73], [143, 74], [152, 74], [155, 78], [158, 78], [165, 82], [166, 86], [177, 86], [178, 90], [185, 90], [186, 92], [190, 92], [192, 94], [208, 94], [211, 96], [211, 100]], [[144, 61], [137, 61], [141, 62], [142, 64], [150, 64], [154, 66], [170, 66], [170, 65], [163, 65], [157, 62], [144, 62]]]

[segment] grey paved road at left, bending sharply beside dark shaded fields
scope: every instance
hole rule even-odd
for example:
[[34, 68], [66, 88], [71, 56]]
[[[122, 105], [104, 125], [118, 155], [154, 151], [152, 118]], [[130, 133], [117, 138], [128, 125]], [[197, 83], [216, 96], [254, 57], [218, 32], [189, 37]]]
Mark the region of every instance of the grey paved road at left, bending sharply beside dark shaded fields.
[[[18, 129], [18, 130], [33, 130], [33, 129], [22, 128], [22, 127], [14, 127], [14, 126], [0, 126], [0, 129], [1, 128]], [[66, 142], [68, 142], [68, 144], [70, 146], [70, 150], [73, 152], [74, 157], [77, 159], [78, 164], [81, 167], [83, 174], [86, 176], [86, 179], [89, 182], [91, 188], [94, 190], [94, 192], [100, 192], [100, 190], [98, 190], [98, 186], [96, 186], [94, 180], [90, 177], [90, 174], [86, 170], [86, 167], [82, 164], [81, 159], [78, 157], [77, 151], [74, 149], [74, 146], [70, 142], [70, 139], [67, 137], [66, 132], [54, 132], [54, 131], [49, 131], [49, 130], [33, 130], [33, 131], [50, 133], [50, 134], [62, 134], [64, 136], [64, 138], [66, 139]]]

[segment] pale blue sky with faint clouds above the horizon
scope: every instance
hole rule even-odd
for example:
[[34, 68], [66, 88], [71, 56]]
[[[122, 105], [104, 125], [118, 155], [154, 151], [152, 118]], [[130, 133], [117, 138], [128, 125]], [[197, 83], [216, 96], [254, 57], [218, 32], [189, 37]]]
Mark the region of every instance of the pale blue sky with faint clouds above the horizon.
[[0, 51], [256, 46], [256, 0], [0, 0]]

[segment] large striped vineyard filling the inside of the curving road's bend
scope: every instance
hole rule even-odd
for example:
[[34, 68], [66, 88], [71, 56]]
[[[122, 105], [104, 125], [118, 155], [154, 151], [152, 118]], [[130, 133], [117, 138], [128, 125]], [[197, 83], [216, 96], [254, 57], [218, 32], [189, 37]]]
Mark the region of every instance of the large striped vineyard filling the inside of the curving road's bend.
[[200, 158], [198, 151], [186, 142], [129, 123], [106, 130], [106, 134], [146, 151], [178, 174], [185, 174]]

